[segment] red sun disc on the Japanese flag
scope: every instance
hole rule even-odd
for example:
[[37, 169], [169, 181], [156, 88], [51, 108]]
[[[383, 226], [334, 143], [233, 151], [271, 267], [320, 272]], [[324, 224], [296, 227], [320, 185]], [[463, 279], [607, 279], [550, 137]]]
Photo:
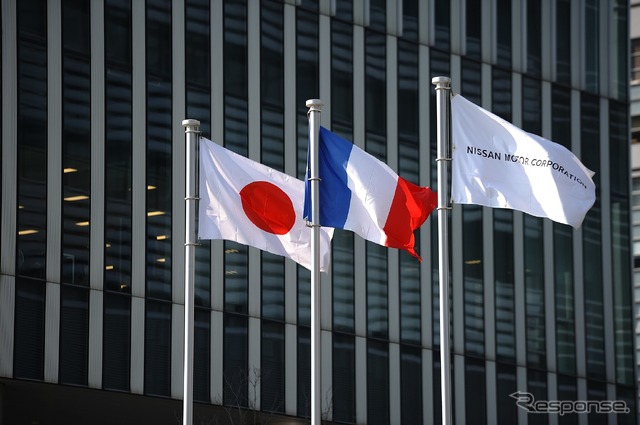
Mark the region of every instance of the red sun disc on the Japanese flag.
[[249, 183], [240, 191], [240, 199], [249, 220], [265, 232], [284, 235], [296, 221], [291, 199], [273, 183]]

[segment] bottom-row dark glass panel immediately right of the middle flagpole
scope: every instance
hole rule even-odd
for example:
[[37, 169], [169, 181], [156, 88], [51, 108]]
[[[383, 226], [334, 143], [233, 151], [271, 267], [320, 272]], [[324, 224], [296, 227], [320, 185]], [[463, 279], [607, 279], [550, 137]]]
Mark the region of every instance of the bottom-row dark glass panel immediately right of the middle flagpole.
[[351, 335], [333, 333], [333, 420], [356, 421], [356, 357]]

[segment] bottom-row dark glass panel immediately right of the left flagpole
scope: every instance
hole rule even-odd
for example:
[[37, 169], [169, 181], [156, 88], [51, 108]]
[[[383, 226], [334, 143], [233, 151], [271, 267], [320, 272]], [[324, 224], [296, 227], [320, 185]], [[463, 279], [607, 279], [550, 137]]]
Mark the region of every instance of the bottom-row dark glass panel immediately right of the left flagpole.
[[211, 312], [205, 308], [194, 311], [193, 339], [193, 399], [211, 402]]

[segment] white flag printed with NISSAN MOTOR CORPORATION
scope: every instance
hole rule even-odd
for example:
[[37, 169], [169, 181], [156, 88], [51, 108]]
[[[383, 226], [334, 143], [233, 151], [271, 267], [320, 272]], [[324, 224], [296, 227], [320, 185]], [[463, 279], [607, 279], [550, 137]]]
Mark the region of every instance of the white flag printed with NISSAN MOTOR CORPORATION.
[[564, 146], [460, 95], [451, 100], [453, 202], [510, 208], [579, 228], [596, 199], [593, 171]]

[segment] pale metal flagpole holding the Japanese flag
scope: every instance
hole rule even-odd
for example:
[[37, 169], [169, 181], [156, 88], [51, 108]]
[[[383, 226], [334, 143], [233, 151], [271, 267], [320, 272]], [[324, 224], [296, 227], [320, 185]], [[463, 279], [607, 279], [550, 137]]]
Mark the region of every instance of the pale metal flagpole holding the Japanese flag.
[[182, 424], [193, 423], [193, 309], [196, 249], [196, 169], [200, 121], [182, 121], [186, 139], [185, 243], [184, 243], [184, 398]]

